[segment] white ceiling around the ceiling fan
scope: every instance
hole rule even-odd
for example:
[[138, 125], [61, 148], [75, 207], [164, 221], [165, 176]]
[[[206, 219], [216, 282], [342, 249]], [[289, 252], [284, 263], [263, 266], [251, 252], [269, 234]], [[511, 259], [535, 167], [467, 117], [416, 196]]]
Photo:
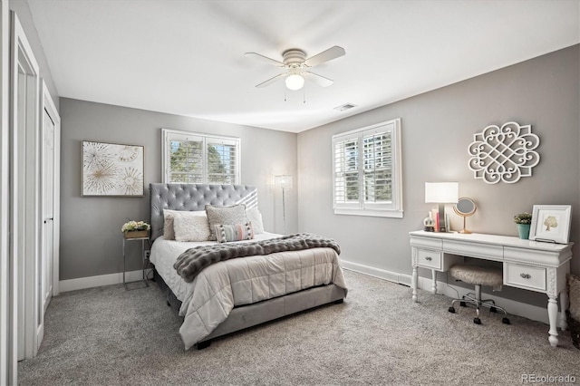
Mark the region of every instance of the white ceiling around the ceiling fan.
[[[293, 132], [580, 43], [580, 0], [28, 3], [61, 97]], [[244, 56], [333, 45], [304, 92]]]

